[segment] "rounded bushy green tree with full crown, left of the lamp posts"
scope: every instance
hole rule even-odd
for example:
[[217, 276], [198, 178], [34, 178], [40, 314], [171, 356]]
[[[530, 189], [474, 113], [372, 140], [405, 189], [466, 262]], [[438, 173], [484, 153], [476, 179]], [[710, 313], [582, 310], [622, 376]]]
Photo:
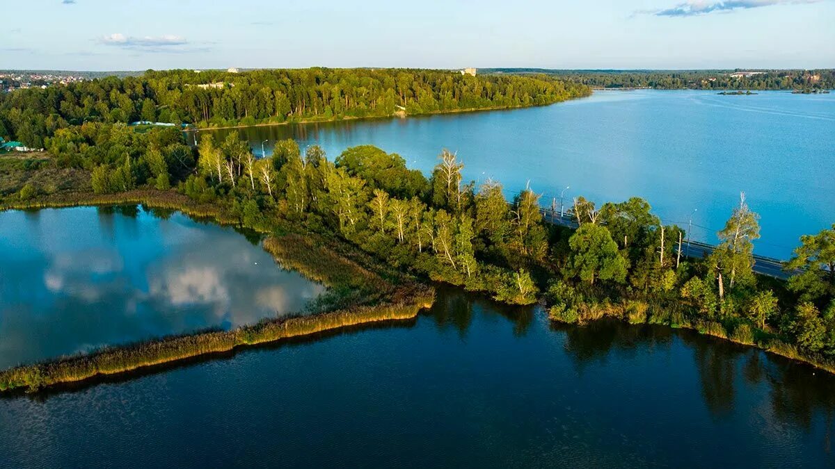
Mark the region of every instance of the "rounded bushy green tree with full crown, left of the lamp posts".
[[626, 260], [618, 254], [618, 245], [604, 226], [583, 224], [569, 238], [569, 246], [569, 270], [574, 277], [590, 285], [598, 279], [625, 281]]

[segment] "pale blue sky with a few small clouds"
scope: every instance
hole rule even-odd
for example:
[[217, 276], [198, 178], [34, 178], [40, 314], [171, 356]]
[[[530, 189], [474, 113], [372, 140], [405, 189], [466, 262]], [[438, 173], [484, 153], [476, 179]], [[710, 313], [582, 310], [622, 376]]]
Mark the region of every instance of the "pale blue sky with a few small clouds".
[[2, 10], [0, 68], [835, 67], [835, 0], [24, 0]]

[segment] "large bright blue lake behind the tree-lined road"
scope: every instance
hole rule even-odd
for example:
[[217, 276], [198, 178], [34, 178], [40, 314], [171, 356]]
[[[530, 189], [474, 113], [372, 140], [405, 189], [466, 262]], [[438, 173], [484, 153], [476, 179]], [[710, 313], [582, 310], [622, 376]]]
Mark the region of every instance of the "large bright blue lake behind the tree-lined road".
[[[237, 131], [237, 130], [235, 130]], [[424, 173], [458, 151], [467, 179], [509, 193], [531, 187], [550, 205], [562, 189], [604, 202], [637, 195], [694, 240], [716, 240], [745, 191], [762, 215], [758, 254], [788, 258], [800, 235], [835, 223], [835, 94], [598, 92], [544, 108], [410, 119], [240, 129], [257, 154], [276, 139], [342, 149], [375, 144]], [[230, 130], [218, 131], [222, 139]]]

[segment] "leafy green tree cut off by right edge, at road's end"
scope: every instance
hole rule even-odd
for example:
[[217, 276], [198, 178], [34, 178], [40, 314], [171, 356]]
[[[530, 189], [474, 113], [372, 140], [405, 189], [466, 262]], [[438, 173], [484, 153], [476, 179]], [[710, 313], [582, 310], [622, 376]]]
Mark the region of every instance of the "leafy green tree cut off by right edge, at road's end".
[[804, 300], [835, 296], [835, 224], [817, 235], [802, 235], [787, 270], [800, 270], [788, 281], [791, 290]]

